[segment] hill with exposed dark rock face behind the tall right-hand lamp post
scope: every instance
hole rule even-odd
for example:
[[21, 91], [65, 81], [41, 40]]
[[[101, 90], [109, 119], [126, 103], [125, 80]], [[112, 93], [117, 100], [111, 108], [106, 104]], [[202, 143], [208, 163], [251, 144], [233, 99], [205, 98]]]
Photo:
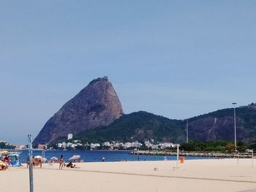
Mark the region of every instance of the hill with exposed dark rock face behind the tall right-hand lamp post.
[[[246, 142], [256, 139], [255, 104], [236, 108], [236, 137], [238, 141]], [[233, 141], [233, 109], [217, 110], [195, 118], [190, 118], [189, 139], [200, 141]]]

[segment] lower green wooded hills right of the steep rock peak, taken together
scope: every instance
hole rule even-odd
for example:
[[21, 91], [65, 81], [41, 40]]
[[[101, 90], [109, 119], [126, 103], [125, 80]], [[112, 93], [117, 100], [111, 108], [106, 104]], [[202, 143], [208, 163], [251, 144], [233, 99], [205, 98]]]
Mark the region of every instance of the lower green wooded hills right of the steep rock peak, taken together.
[[[217, 110], [189, 118], [189, 140], [234, 140], [233, 108]], [[109, 126], [94, 128], [75, 135], [84, 142], [132, 142], [154, 139], [159, 142], [185, 142], [187, 120], [171, 120], [148, 112], [122, 115]], [[256, 140], [256, 105], [236, 108], [237, 140]], [[63, 138], [62, 138], [63, 139]]]

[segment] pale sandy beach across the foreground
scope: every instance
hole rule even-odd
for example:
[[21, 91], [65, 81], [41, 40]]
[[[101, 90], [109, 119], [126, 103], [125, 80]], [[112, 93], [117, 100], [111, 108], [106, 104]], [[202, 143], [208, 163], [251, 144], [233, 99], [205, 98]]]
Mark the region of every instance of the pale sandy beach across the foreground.
[[[80, 168], [59, 165], [34, 169], [35, 192], [211, 192], [256, 191], [256, 160], [252, 159], [129, 161], [76, 164]], [[157, 168], [157, 171], [154, 170]], [[0, 172], [1, 192], [29, 191], [26, 166]], [[4, 185], [2, 185], [4, 183]]]

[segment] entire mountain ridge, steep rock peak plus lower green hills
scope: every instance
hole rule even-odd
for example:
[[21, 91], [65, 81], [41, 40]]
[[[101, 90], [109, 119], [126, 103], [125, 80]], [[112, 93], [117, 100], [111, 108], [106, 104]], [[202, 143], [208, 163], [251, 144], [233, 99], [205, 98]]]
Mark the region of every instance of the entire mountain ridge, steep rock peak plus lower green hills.
[[[189, 139], [200, 141], [233, 140], [233, 108], [208, 112], [187, 120], [175, 120], [149, 112], [125, 115], [108, 77], [89, 82], [67, 101], [43, 126], [33, 144], [50, 143], [73, 134], [84, 141], [121, 140], [185, 142], [186, 124]], [[236, 107], [237, 139], [256, 139], [256, 104]], [[78, 137], [76, 137], [78, 135]]]

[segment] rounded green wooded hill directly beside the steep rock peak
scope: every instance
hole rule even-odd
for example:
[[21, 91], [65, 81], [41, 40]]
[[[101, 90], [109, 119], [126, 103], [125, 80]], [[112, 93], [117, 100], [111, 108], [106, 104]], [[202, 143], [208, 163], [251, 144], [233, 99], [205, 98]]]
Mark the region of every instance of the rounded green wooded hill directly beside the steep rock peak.
[[132, 112], [122, 115], [109, 126], [84, 131], [75, 136], [86, 142], [105, 141], [154, 141], [183, 142], [186, 133], [182, 120], [170, 120], [148, 112]]

